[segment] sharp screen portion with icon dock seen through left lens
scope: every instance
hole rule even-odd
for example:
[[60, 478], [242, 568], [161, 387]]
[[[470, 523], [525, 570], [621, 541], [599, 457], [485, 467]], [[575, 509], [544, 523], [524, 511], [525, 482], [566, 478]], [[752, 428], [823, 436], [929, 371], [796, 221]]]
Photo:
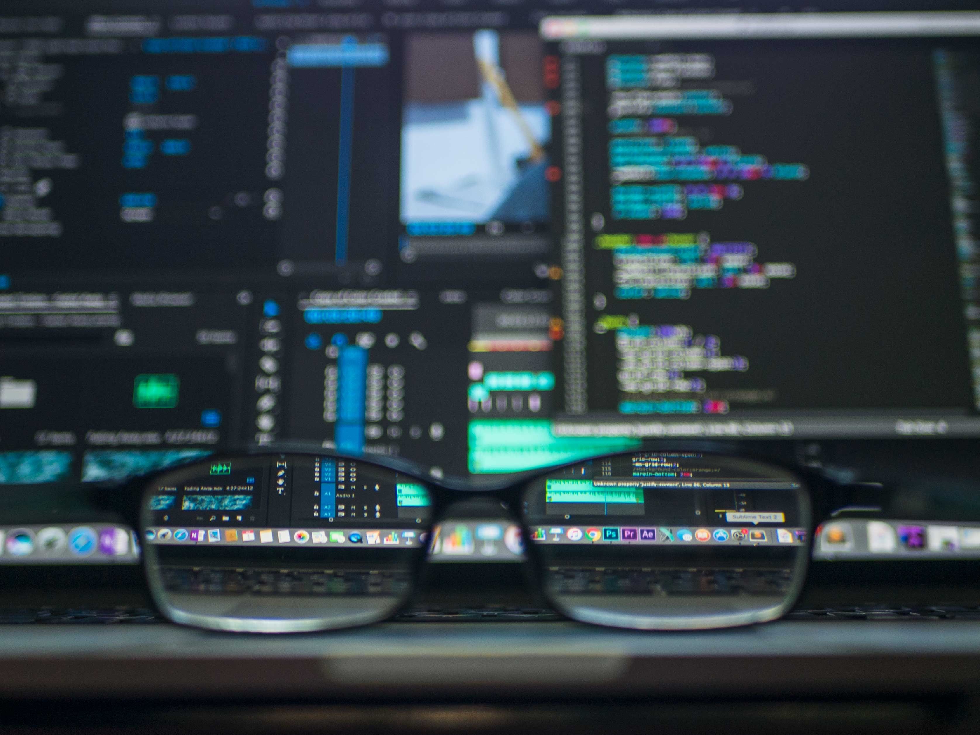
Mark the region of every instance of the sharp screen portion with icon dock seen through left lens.
[[146, 535], [158, 544], [406, 547], [424, 540], [430, 505], [415, 480], [317, 456], [215, 460], [160, 481], [149, 499], [155, 523]]

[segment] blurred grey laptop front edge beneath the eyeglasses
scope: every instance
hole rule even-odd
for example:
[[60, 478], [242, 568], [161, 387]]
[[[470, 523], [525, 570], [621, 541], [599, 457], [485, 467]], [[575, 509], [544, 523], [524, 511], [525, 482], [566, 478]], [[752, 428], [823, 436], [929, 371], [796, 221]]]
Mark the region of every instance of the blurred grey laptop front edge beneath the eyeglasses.
[[648, 633], [566, 622], [386, 623], [299, 636], [172, 625], [0, 627], [0, 696], [320, 702], [980, 691], [980, 623], [775, 622]]

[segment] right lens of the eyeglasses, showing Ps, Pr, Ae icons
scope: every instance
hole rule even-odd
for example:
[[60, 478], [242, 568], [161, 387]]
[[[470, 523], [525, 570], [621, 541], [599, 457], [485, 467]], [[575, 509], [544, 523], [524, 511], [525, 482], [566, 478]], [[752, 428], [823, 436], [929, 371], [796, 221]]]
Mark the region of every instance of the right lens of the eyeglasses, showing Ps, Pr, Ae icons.
[[531, 483], [523, 512], [546, 591], [579, 620], [642, 629], [760, 622], [795, 602], [809, 498], [776, 466], [641, 452]]

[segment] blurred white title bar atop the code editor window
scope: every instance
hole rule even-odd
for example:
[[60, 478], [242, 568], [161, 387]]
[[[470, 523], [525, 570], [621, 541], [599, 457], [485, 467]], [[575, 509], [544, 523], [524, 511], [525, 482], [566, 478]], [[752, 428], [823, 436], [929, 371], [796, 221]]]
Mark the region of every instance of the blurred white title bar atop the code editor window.
[[980, 11], [547, 17], [540, 32], [548, 41], [971, 36]]

